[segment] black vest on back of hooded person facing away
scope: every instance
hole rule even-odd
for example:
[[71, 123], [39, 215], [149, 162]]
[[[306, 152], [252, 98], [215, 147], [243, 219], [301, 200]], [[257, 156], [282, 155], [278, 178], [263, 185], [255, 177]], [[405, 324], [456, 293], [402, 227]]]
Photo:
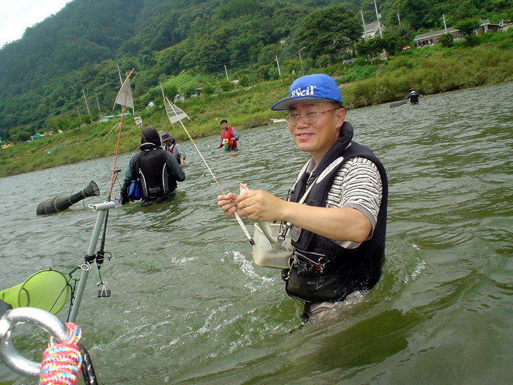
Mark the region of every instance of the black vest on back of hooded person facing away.
[[166, 153], [160, 147], [143, 151], [136, 162], [143, 198], [159, 198], [175, 191], [177, 184], [166, 167]]

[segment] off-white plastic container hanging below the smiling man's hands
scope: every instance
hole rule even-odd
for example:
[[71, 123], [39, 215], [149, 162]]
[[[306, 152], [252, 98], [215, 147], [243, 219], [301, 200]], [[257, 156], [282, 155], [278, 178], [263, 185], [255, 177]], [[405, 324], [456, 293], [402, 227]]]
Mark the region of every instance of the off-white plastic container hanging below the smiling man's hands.
[[[271, 234], [277, 239], [280, 235], [280, 224], [270, 224]], [[281, 246], [275, 252], [266, 235], [263, 234], [259, 224], [254, 224], [253, 234], [254, 245], [252, 249], [253, 261], [259, 266], [266, 268], [289, 268], [289, 257], [292, 255], [293, 247], [290, 244], [291, 238], [287, 235], [283, 242], [277, 241]]]

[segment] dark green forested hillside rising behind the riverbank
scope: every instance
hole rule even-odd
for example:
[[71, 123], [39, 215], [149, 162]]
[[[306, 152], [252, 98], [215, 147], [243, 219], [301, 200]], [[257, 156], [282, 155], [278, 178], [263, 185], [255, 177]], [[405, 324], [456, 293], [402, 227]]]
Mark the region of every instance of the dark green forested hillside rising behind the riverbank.
[[[416, 31], [442, 28], [442, 13], [449, 25], [512, 13], [501, 0], [380, 0], [377, 6], [387, 31], [398, 34], [397, 46]], [[259, 80], [273, 78], [275, 55], [296, 59], [303, 47], [303, 59], [317, 60], [317, 68], [351, 57], [348, 48], [363, 31], [360, 11], [366, 22], [376, 20], [369, 0], [70, 1], [1, 48], [0, 138], [25, 140], [80, 123], [82, 89], [91, 103], [112, 108], [116, 87], [106, 85], [119, 81], [118, 66], [136, 69], [138, 98], [180, 73], [209, 76], [199, 86], [214, 88], [226, 68], [243, 76], [253, 66]]]

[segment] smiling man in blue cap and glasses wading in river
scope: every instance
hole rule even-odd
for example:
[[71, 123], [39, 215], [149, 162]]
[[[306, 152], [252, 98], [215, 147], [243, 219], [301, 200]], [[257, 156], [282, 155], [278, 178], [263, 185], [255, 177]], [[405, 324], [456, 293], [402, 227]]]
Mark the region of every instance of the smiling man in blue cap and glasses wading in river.
[[233, 217], [282, 221], [294, 253], [282, 270], [285, 290], [304, 303], [303, 319], [319, 317], [379, 281], [384, 261], [388, 182], [379, 159], [353, 139], [340, 89], [316, 73], [295, 80], [287, 110], [292, 140], [311, 158], [287, 200], [263, 190], [217, 197]]

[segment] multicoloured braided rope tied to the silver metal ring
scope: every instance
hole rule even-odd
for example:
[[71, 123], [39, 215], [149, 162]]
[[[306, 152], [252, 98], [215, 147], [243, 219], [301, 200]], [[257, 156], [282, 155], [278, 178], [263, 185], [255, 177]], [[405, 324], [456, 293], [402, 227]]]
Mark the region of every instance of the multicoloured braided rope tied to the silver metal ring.
[[56, 343], [50, 337], [49, 346], [43, 352], [40, 384], [75, 385], [82, 366], [82, 354], [77, 344], [82, 330], [72, 322], [66, 324], [66, 340]]

